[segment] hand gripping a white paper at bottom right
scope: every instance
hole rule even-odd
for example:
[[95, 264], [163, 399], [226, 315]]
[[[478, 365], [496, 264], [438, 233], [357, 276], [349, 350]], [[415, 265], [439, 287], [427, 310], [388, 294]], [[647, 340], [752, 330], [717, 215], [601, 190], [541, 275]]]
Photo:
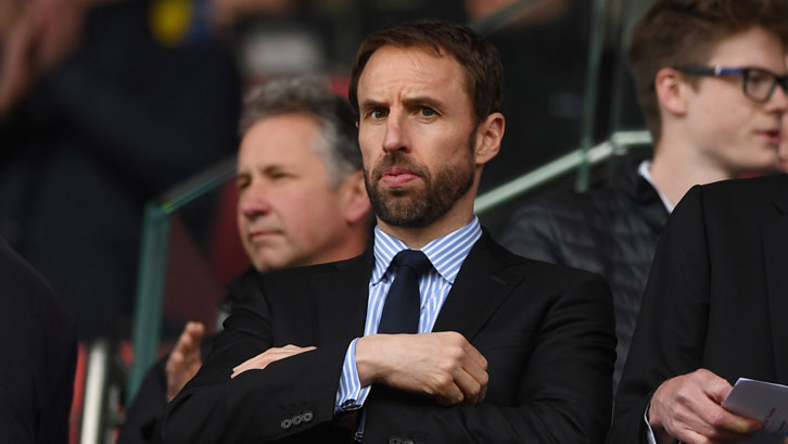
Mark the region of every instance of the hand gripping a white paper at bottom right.
[[722, 403], [733, 388], [706, 369], [663, 382], [651, 397], [648, 418], [657, 442], [712, 444], [742, 441], [763, 424], [736, 416]]

